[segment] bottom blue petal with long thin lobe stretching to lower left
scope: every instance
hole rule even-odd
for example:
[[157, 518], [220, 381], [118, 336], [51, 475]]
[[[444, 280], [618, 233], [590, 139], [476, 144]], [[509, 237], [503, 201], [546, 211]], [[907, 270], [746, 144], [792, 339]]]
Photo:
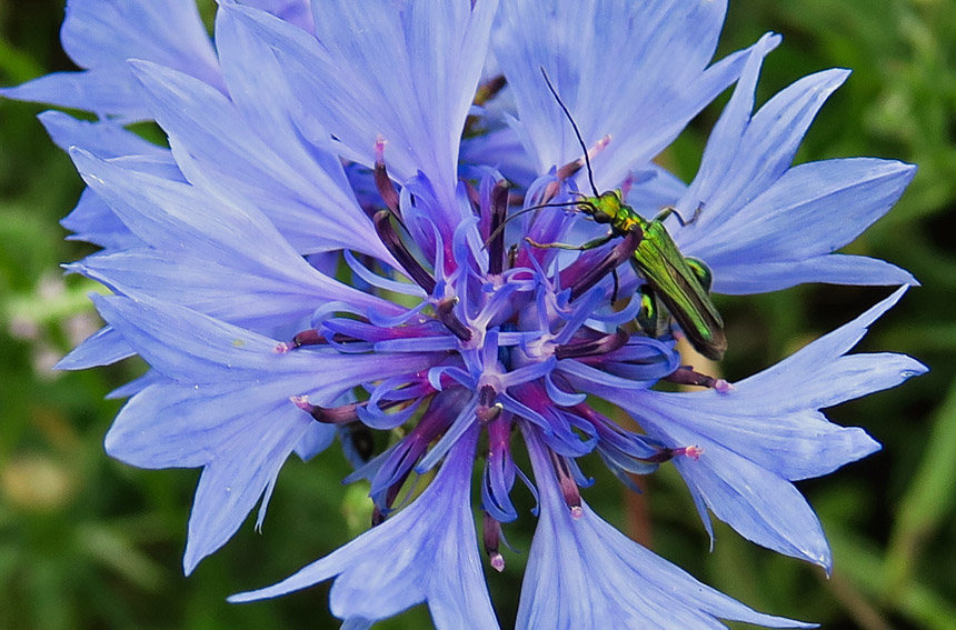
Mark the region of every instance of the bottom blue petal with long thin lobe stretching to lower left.
[[469, 501], [478, 431], [449, 452], [421, 496], [382, 524], [258, 591], [232, 602], [266, 599], [335, 578], [332, 613], [378, 620], [427, 601], [436, 628], [498, 628], [481, 573]]

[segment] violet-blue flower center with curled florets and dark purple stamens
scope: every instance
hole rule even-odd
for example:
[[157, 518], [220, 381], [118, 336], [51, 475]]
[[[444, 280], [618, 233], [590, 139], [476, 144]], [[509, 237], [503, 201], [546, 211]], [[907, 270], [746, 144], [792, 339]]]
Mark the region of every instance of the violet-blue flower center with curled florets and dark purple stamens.
[[[699, 457], [695, 447], [669, 447], [623, 429], [596, 412], [582, 393], [589, 382], [645, 389], [670, 380], [729, 388], [681, 367], [673, 339], [638, 331], [630, 322], [639, 299], [631, 298], [620, 311], [611, 304], [603, 280], [634, 251], [630, 240], [639, 234], [604, 252], [566, 260], [568, 254], [532, 243], [562, 238], [577, 219], [544, 211], [525, 217], [519, 226], [508, 218], [507, 183], [489, 178], [477, 187], [461, 184], [461, 218], [454, 230], [442, 231], [434, 220], [437, 201], [424, 176], [406, 182], [399, 193], [385, 167], [384, 142], [377, 151], [374, 178], [386, 209], [375, 212], [374, 223], [407, 281], [391, 277], [387, 268], [376, 272], [348, 252], [346, 260], [374, 289], [404, 293], [407, 299], [396, 300], [407, 302], [406, 310], [390, 317], [328, 310], [313, 317], [313, 329], [276, 349], [321, 344], [343, 353], [377, 353], [386, 361], [405, 352], [431, 358], [430, 369], [367, 383], [365, 400], [325, 408], [307, 397], [292, 398], [319, 422], [401, 428], [397, 442], [353, 474], [371, 483], [375, 523], [395, 508], [411, 473], [427, 472], [476, 422], [487, 437], [485, 546], [499, 570], [500, 523], [517, 518], [510, 500], [518, 474], [510, 438], [519, 424], [547, 444], [555, 478], [575, 516], [581, 514], [578, 489], [587, 483], [576, 463], [582, 454], [598, 450], [621, 473], [649, 472], [675, 457]], [[547, 202], [560, 189], [560, 180], [544, 178], [526, 193], [525, 204]], [[346, 434], [368, 441], [366, 432]]]

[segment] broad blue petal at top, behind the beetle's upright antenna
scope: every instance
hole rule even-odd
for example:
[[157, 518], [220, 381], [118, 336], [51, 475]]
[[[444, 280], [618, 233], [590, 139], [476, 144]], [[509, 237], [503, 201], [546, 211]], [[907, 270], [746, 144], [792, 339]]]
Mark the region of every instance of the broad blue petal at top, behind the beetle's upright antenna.
[[592, 160], [597, 188], [605, 190], [647, 164], [737, 78], [739, 54], [706, 69], [725, 12], [721, 1], [502, 2], [496, 56], [539, 172], [581, 156], [541, 67], [585, 142], [610, 136]]

